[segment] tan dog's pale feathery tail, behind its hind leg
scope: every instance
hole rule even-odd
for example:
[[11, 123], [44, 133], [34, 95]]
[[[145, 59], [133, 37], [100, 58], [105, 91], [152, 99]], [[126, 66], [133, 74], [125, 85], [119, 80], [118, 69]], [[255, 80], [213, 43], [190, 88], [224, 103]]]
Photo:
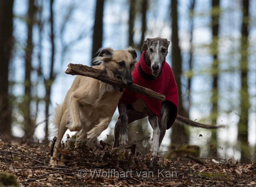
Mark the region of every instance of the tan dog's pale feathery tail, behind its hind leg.
[[48, 125], [48, 129], [49, 129], [49, 136], [50, 137], [57, 137], [58, 134], [58, 129], [59, 129], [59, 125], [60, 125], [60, 120], [63, 114], [63, 104], [56, 104], [56, 107], [54, 108], [54, 114], [52, 117], [51, 122]]

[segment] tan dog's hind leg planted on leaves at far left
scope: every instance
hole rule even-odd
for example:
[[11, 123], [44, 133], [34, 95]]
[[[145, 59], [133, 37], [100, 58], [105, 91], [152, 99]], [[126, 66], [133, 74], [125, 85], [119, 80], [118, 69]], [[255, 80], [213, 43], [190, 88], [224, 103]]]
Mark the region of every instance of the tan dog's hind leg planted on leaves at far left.
[[58, 153], [58, 149], [60, 149], [60, 143], [61, 143], [61, 140], [65, 134], [67, 130], [67, 127], [66, 127], [66, 118], [62, 118], [61, 121], [60, 121], [60, 126], [59, 126], [59, 129], [58, 129], [58, 136], [57, 136], [57, 141], [55, 143], [55, 146], [54, 146], [54, 149], [53, 149], [53, 155], [51, 157], [51, 161], [50, 161], [50, 165], [51, 166], [55, 166], [55, 165], [64, 165], [64, 164], [58, 164], [57, 163], [57, 153]]

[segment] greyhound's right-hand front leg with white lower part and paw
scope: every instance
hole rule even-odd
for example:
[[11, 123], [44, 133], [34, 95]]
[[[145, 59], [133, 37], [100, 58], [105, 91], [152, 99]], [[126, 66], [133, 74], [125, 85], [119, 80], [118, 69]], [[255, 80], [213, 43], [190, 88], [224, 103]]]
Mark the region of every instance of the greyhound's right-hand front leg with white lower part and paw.
[[159, 138], [160, 138], [160, 129], [158, 126], [158, 117], [148, 110], [148, 121], [153, 128], [153, 136], [152, 136], [152, 143], [151, 143], [151, 156], [156, 158], [158, 155], [159, 150]]

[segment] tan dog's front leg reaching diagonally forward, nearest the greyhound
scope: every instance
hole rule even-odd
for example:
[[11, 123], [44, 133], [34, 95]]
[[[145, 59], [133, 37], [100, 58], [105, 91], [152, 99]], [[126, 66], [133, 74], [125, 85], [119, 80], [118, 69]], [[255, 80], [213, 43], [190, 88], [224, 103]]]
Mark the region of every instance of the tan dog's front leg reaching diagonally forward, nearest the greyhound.
[[108, 128], [110, 120], [111, 118], [100, 118], [100, 123], [96, 125], [92, 130], [87, 132], [87, 139], [93, 141], [98, 136], [100, 136], [103, 130], [106, 130]]

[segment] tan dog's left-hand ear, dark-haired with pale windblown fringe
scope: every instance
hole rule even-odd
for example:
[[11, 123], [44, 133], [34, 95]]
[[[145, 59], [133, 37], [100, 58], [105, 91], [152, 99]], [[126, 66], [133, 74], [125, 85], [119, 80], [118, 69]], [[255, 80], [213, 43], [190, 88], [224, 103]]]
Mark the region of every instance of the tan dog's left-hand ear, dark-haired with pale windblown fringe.
[[113, 51], [114, 50], [111, 47], [100, 48], [97, 52], [99, 53], [99, 55], [92, 60], [92, 65], [100, 65], [103, 61], [107, 62], [111, 60], [113, 56]]

